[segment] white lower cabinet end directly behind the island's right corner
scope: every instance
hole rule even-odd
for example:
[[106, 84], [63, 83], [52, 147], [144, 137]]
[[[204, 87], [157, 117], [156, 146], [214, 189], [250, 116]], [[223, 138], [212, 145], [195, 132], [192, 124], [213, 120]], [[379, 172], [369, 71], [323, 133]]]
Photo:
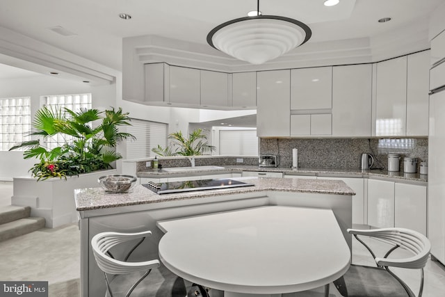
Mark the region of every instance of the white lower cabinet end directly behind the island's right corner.
[[317, 177], [317, 179], [339, 179], [353, 189], [353, 224], [364, 225], [366, 223], [366, 195], [364, 191], [364, 179], [352, 177]]

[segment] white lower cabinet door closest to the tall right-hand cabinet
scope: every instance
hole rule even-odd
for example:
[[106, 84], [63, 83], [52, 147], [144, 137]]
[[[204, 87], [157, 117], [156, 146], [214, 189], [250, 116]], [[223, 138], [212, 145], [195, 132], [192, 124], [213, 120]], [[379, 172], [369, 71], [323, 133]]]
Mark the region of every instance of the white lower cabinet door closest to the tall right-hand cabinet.
[[396, 183], [394, 193], [394, 225], [426, 236], [426, 186]]

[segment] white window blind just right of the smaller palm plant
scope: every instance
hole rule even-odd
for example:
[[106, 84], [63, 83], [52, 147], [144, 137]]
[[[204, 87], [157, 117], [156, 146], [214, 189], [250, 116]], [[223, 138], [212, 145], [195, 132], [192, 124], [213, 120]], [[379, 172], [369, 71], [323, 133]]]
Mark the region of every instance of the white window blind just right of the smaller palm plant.
[[257, 156], [257, 130], [220, 130], [220, 154]]

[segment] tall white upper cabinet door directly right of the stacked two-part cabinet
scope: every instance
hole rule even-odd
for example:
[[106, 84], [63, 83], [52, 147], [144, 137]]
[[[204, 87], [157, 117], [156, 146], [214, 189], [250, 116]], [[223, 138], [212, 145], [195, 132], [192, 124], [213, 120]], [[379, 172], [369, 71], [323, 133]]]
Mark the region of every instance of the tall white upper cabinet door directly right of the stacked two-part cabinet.
[[332, 136], [371, 136], [372, 65], [332, 70]]

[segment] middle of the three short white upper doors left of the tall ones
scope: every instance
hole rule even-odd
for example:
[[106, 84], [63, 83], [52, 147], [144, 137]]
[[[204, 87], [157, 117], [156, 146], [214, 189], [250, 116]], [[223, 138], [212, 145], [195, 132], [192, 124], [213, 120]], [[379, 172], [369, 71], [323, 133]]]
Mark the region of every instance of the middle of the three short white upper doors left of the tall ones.
[[229, 74], [201, 70], [201, 105], [229, 106]]

